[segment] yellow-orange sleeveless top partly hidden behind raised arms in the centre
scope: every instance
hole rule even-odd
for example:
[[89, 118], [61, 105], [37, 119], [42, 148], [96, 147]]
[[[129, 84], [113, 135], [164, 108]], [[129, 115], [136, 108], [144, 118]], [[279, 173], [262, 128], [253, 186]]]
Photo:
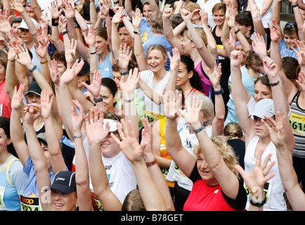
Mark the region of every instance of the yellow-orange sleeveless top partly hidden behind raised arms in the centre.
[[[171, 156], [167, 153], [167, 146], [165, 143], [165, 122], [167, 122], [167, 117], [164, 117], [159, 120], [160, 123], [160, 155], [162, 158], [166, 158], [167, 160], [171, 160]], [[171, 188], [174, 188], [175, 182], [171, 181], [171, 179], [167, 179], [167, 174], [169, 173], [169, 168], [160, 167], [161, 172], [164, 176], [165, 181], [167, 181], [167, 185]]]

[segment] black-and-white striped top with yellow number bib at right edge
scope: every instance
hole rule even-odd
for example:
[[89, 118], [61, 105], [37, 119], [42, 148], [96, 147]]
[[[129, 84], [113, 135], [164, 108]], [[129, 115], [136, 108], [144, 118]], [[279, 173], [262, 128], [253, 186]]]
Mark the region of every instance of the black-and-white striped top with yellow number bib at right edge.
[[301, 89], [297, 91], [290, 103], [290, 125], [294, 135], [295, 146], [292, 155], [305, 158], [305, 110], [297, 103]]

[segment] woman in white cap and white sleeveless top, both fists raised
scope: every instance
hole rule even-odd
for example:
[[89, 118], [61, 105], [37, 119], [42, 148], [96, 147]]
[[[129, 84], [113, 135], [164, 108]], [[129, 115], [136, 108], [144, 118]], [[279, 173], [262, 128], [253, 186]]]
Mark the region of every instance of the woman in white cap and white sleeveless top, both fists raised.
[[[257, 94], [254, 92], [254, 98], [252, 98], [254, 106], [252, 110], [250, 110], [248, 107], [251, 101], [249, 101], [245, 88], [242, 88], [242, 85], [240, 85], [240, 60], [240, 51], [233, 51], [231, 53], [231, 72], [233, 75], [232, 95], [235, 99], [235, 108], [238, 108], [238, 110], [236, 110], [236, 115], [238, 116], [240, 127], [242, 127], [242, 131], [244, 131], [245, 134], [245, 172], [251, 173], [256, 164], [258, 151], [261, 149], [264, 150], [262, 160], [264, 160], [269, 153], [272, 153], [271, 161], [276, 161], [275, 145], [271, 141], [268, 129], [266, 129], [261, 122], [261, 120], [265, 120], [265, 115], [275, 119], [275, 111], [280, 111], [280, 114], [283, 117], [285, 143], [291, 149], [293, 149], [295, 143], [292, 129], [290, 128], [290, 122], [287, 117], [287, 100], [278, 77], [278, 65], [276, 65], [271, 58], [266, 57], [263, 60], [264, 71], [268, 76], [273, 99], [266, 98], [264, 94], [262, 95], [263, 98], [256, 98]], [[247, 210], [249, 209], [249, 203], [256, 205], [257, 207], [264, 206], [264, 210], [287, 210], [285, 198], [283, 197], [285, 190], [280, 181], [277, 165], [275, 165], [270, 172], [275, 172], [276, 175], [264, 186], [266, 198], [261, 202], [256, 202], [255, 200], [252, 200], [252, 198], [249, 198], [246, 207]], [[254, 190], [249, 190], [249, 193], [252, 191]]]

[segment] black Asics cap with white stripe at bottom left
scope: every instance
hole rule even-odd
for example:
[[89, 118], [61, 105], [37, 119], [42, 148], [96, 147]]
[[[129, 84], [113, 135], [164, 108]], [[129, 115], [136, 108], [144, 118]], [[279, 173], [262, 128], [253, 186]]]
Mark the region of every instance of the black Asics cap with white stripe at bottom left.
[[54, 176], [51, 189], [55, 189], [62, 193], [68, 194], [76, 191], [75, 172], [72, 171], [60, 171]]

